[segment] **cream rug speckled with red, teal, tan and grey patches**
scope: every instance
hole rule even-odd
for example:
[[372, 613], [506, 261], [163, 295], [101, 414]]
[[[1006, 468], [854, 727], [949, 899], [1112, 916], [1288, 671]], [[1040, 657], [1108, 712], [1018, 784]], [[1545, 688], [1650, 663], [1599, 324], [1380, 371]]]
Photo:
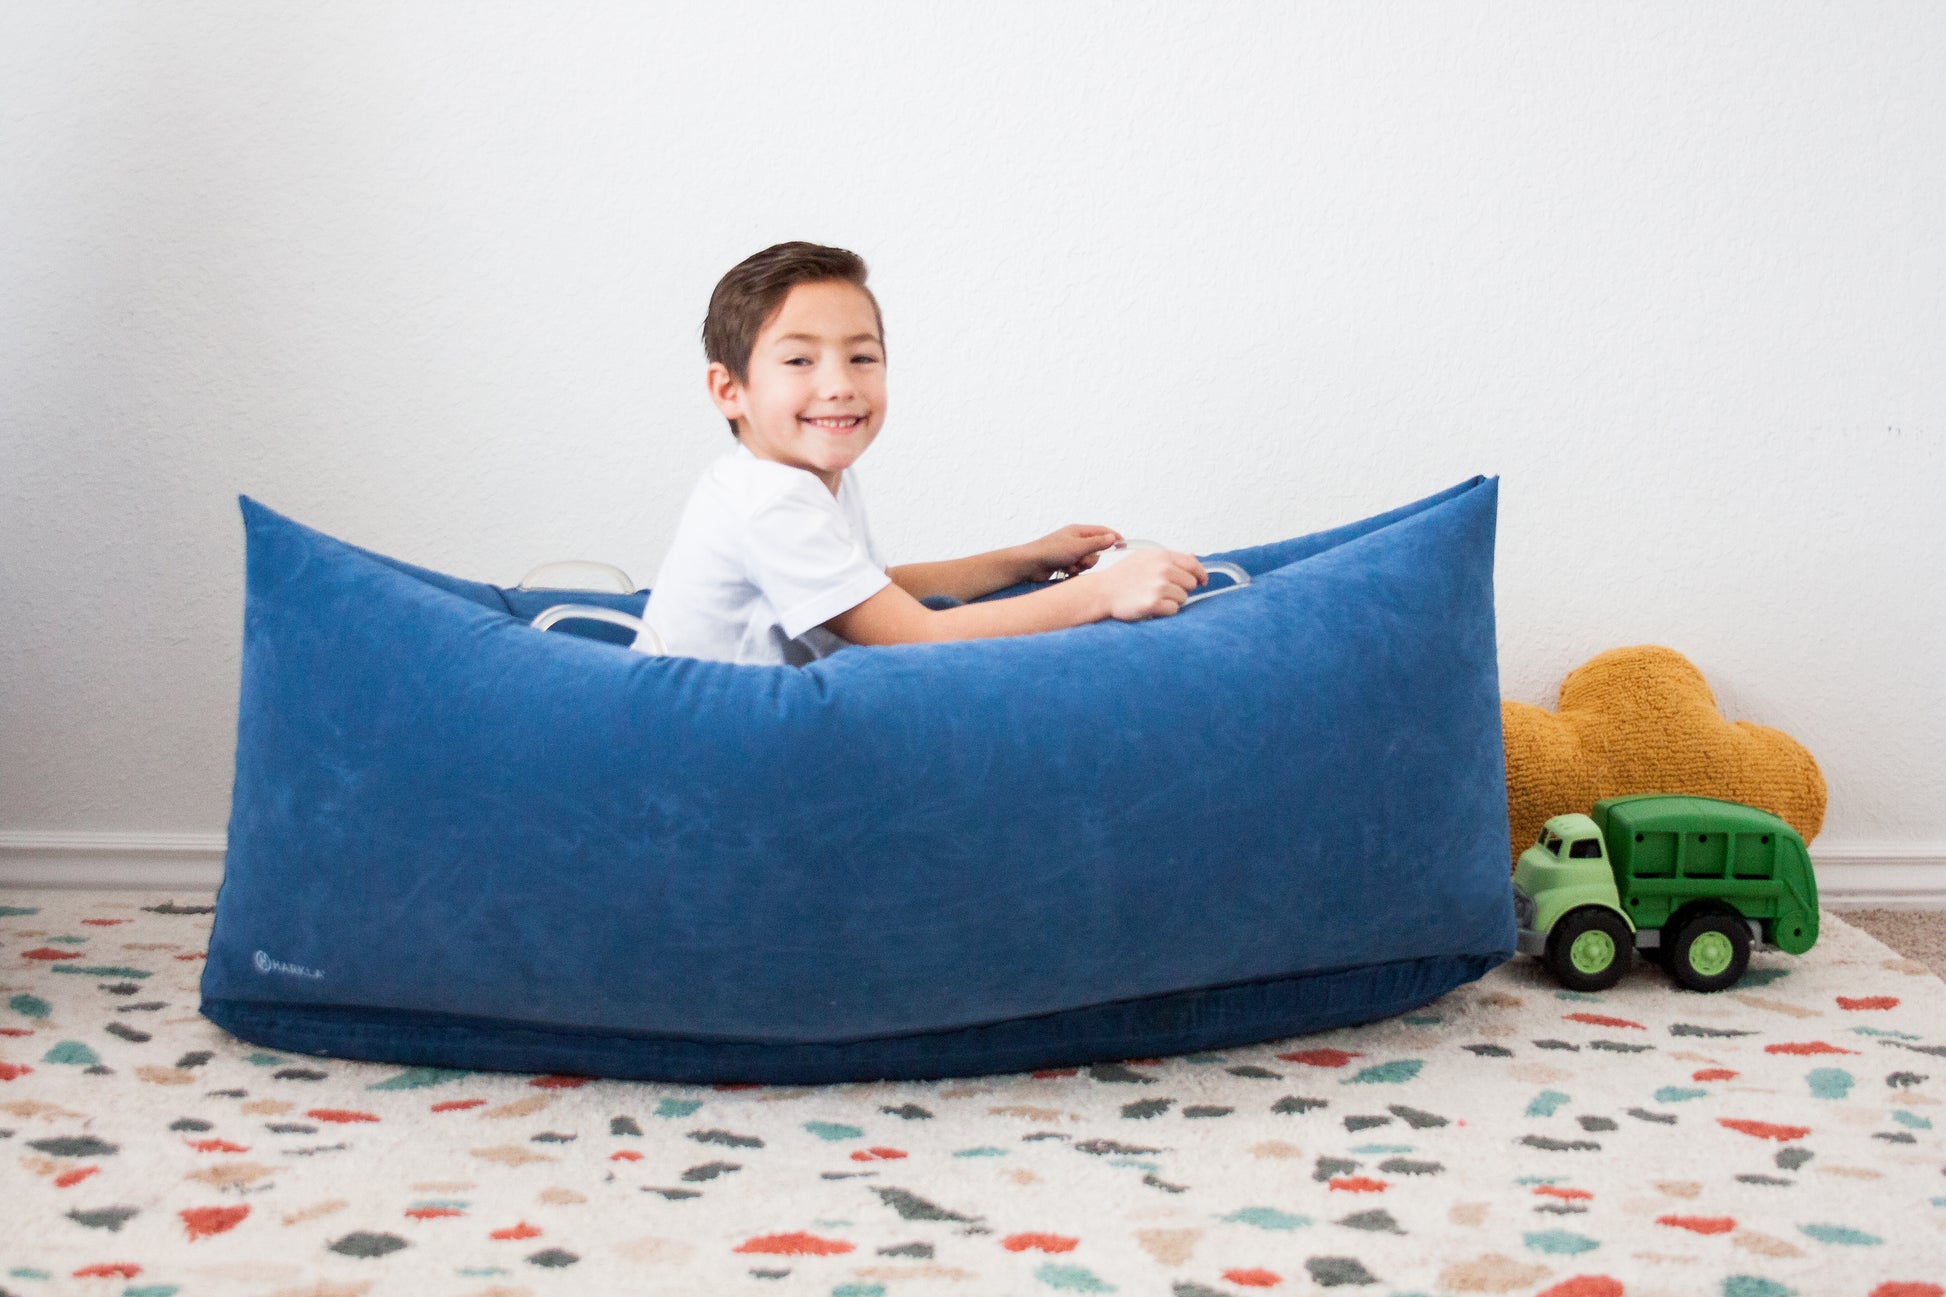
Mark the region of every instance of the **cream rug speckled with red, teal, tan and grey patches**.
[[0, 896], [0, 1291], [1942, 1297], [1946, 983], [1827, 917], [1722, 995], [1516, 960], [1074, 1071], [636, 1085], [257, 1050], [208, 898]]

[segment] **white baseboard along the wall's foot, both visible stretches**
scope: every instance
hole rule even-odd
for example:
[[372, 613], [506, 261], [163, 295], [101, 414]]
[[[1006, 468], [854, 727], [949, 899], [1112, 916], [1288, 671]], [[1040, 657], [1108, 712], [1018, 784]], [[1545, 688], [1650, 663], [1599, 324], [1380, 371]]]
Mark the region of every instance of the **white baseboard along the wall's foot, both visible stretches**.
[[[1946, 845], [1814, 847], [1829, 909], [1946, 909]], [[0, 832], [0, 888], [214, 892], [222, 834]]]

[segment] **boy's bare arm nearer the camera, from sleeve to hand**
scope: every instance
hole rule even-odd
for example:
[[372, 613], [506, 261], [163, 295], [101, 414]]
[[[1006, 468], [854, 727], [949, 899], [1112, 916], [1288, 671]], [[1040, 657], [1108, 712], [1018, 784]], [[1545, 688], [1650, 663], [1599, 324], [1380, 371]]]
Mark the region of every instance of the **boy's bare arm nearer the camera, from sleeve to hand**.
[[1193, 555], [1144, 549], [1105, 573], [1090, 573], [989, 604], [930, 610], [899, 584], [825, 621], [854, 645], [919, 645], [954, 639], [1033, 635], [1117, 617], [1170, 617], [1208, 580]]

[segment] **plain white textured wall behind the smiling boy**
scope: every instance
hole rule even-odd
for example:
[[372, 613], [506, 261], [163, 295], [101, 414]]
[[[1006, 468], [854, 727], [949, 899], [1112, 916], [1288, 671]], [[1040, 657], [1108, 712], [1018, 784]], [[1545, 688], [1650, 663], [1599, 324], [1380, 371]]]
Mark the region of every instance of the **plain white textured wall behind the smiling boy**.
[[220, 832], [235, 495], [654, 576], [699, 325], [872, 265], [899, 559], [1502, 475], [1508, 697], [1689, 654], [1946, 853], [1938, 4], [0, 8], [0, 830]]

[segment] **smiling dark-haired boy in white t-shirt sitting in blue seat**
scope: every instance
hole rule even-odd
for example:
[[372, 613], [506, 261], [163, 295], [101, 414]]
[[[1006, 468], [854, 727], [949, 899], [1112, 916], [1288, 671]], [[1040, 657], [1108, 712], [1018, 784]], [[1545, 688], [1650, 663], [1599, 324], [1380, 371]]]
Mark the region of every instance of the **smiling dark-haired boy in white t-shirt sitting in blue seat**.
[[[802, 666], [847, 643], [1029, 635], [1175, 613], [1208, 578], [1203, 565], [1136, 549], [1090, 571], [1121, 541], [1098, 526], [885, 567], [850, 471], [885, 421], [885, 331], [864, 280], [856, 253], [794, 241], [745, 259], [710, 294], [708, 389], [738, 448], [703, 473], [656, 574], [644, 621], [667, 650]], [[1055, 573], [1068, 580], [1053, 582]], [[1024, 580], [1051, 584], [971, 602]]]

